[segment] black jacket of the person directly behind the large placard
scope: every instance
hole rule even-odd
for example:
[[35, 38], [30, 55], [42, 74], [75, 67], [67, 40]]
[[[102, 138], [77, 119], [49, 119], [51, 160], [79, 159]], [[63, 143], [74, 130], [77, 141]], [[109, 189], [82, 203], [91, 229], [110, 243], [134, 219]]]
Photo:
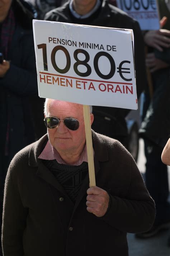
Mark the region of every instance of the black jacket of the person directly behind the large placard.
[[[74, 23], [69, 8], [69, 2], [48, 12], [45, 20]], [[125, 12], [103, 0], [97, 17], [90, 23], [93, 26], [115, 27], [132, 29], [134, 33], [134, 60], [136, 69], [137, 96], [146, 86], [145, 59], [143, 37], [137, 21], [129, 17]], [[93, 107], [94, 123], [92, 128], [101, 134], [112, 138], [126, 136], [127, 127], [125, 117], [129, 109]], [[107, 117], [107, 118], [106, 118]]]

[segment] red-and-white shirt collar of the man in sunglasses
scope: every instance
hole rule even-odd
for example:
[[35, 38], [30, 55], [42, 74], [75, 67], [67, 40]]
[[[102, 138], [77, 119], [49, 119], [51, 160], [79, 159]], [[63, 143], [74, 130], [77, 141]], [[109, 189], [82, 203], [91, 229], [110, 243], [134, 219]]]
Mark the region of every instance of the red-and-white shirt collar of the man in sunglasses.
[[[94, 151], [93, 151], [93, 154], [94, 154]], [[50, 144], [49, 140], [38, 158], [44, 159], [44, 160], [56, 160], [60, 164], [67, 165], [67, 163], [62, 160], [62, 158], [61, 158], [60, 154], [57, 152], [57, 150]], [[79, 160], [76, 163], [74, 163], [73, 165], [81, 165], [82, 162], [88, 162], [86, 145], [84, 147], [84, 150], [83, 150]]]

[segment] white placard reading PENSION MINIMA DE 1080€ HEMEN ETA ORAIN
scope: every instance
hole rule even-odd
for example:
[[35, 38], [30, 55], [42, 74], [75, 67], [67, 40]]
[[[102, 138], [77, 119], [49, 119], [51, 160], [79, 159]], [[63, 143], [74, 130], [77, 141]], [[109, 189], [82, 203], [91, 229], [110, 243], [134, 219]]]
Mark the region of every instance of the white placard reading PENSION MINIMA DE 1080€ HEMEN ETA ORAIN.
[[132, 30], [33, 20], [33, 32], [40, 97], [137, 109]]

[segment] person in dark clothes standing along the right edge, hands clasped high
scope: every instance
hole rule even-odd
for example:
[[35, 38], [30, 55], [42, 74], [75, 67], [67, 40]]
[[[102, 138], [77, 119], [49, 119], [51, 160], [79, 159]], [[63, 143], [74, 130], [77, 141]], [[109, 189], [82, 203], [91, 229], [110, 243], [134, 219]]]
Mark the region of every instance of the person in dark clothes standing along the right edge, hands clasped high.
[[[161, 161], [161, 153], [170, 132], [170, 6], [159, 1], [161, 29], [146, 31], [148, 46], [146, 66], [151, 81], [145, 93], [143, 122], [140, 136], [145, 143], [146, 186], [155, 201], [156, 219], [151, 230], [137, 237], [148, 238], [170, 228], [170, 203], [167, 166]], [[166, 17], [164, 17], [166, 15]]]

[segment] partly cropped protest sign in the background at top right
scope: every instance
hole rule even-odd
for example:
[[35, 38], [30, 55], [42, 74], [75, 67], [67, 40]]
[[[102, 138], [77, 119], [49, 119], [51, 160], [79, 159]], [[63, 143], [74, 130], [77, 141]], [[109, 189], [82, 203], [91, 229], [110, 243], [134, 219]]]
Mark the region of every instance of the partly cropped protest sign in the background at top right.
[[141, 30], [158, 30], [160, 28], [157, 0], [116, 0], [118, 8], [136, 19]]

